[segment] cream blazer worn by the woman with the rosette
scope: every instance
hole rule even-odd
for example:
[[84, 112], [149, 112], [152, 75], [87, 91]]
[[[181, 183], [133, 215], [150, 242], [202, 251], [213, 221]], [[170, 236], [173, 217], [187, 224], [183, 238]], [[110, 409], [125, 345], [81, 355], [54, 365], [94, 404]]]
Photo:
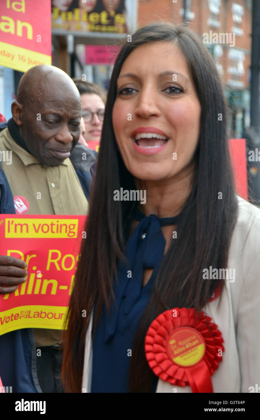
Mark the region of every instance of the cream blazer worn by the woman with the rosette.
[[[227, 267], [235, 269], [235, 281], [226, 279], [221, 299], [203, 308], [224, 339], [222, 362], [211, 377], [215, 393], [244, 393], [250, 386], [260, 385], [260, 209], [240, 197], [238, 205]], [[86, 334], [82, 392], [91, 391], [91, 331], [92, 319]], [[192, 390], [159, 378], [156, 392]]]

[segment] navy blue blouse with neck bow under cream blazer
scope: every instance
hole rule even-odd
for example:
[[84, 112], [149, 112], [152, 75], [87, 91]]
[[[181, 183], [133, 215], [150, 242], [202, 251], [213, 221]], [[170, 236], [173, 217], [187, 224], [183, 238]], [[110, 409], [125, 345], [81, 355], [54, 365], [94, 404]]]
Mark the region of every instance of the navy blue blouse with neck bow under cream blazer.
[[[173, 218], [145, 216], [139, 209], [126, 227], [125, 239], [134, 219], [140, 220], [126, 242], [127, 263], [118, 262], [118, 283], [114, 283], [116, 304], [110, 314], [105, 308], [97, 325], [93, 341], [91, 392], [129, 392], [129, 369], [134, 336], [150, 299], [155, 277], [163, 258], [165, 238], [160, 226], [176, 224]], [[152, 276], [142, 287], [144, 269], [151, 268]], [[158, 378], [153, 389], [156, 391]]]

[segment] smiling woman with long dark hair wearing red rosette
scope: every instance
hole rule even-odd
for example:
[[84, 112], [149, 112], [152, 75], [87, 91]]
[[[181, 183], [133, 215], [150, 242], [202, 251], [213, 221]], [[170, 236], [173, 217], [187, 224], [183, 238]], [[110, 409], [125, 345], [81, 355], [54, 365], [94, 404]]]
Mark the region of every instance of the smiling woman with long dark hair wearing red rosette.
[[[67, 391], [257, 383], [260, 210], [235, 193], [226, 113], [215, 64], [190, 29], [156, 23], [125, 42], [64, 336]], [[146, 202], [115, 200], [121, 188], [146, 191]], [[205, 278], [210, 267], [232, 268], [236, 281]]]

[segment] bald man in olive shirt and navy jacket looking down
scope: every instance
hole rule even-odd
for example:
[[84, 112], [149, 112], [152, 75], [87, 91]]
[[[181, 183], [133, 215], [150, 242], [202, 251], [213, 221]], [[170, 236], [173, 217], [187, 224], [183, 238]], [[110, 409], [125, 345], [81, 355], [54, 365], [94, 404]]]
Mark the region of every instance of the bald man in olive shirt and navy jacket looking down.
[[[81, 99], [74, 82], [59, 68], [33, 67], [21, 78], [11, 111], [0, 132], [0, 150], [12, 152], [12, 164], [2, 162], [0, 170], [0, 213], [86, 215], [96, 156], [77, 145]], [[15, 209], [13, 197], [23, 205]], [[0, 293], [13, 293], [27, 274], [24, 261], [0, 255]], [[3, 386], [13, 392], [63, 392], [61, 334], [28, 328], [0, 336]]]

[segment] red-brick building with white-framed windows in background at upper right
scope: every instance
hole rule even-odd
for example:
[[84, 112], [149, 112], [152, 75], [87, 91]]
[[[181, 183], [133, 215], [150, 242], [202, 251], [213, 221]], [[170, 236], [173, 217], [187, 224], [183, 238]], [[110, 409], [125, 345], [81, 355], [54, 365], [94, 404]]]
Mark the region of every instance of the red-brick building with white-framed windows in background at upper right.
[[[138, 24], [164, 19], [181, 24], [183, 0], [139, 1]], [[186, 25], [212, 54], [231, 110], [228, 129], [242, 137], [250, 125], [252, 1], [186, 0]]]

